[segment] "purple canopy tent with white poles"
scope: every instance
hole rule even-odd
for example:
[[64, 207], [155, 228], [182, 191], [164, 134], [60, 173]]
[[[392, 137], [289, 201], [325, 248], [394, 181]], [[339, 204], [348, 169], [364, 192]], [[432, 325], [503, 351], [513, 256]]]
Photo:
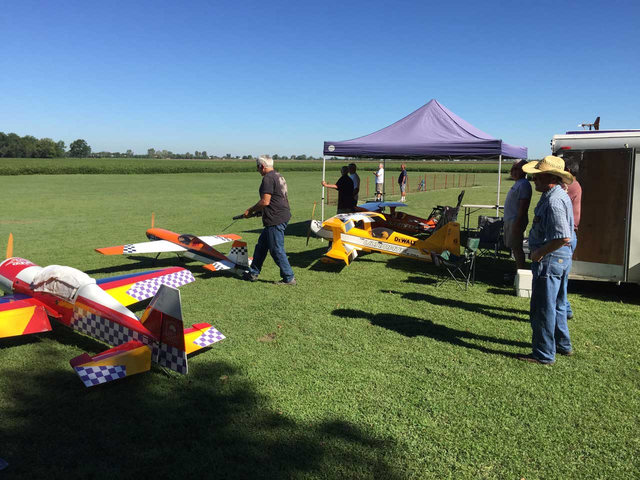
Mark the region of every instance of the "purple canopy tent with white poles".
[[[326, 156], [382, 159], [498, 159], [498, 196], [502, 158], [527, 158], [526, 147], [514, 147], [465, 122], [437, 100], [430, 100], [395, 124], [353, 140], [325, 141]], [[324, 163], [323, 163], [324, 179]], [[323, 188], [324, 205], [324, 188]], [[324, 206], [323, 206], [324, 219]]]

